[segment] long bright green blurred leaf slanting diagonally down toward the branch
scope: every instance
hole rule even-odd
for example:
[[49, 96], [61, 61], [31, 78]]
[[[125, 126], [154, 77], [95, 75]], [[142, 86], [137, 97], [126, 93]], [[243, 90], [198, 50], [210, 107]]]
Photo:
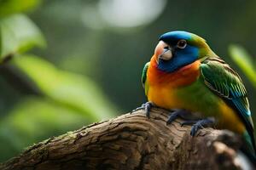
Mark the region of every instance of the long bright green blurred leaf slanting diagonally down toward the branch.
[[49, 99], [86, 115], [91, 122], [114, 116], [113, 105], [88, 77], [61, 71], [36, 56], [23, 55], [13, 62]]

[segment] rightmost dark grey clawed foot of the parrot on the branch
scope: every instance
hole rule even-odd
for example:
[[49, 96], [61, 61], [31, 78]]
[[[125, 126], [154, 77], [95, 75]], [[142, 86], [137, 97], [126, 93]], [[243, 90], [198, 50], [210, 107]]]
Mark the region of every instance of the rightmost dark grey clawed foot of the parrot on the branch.
[[185, 121], [181, 122], [181, 126], [184, 125], [193, 125], [191, 127], [190, 135], [195, 136], [195, 133], [198, 132], [199, 129], [203, 127], [211, 127], [215, 123], [215, 119], [212, 117], [206, 118], [206, 119], [201, 119], [199, 121]]

